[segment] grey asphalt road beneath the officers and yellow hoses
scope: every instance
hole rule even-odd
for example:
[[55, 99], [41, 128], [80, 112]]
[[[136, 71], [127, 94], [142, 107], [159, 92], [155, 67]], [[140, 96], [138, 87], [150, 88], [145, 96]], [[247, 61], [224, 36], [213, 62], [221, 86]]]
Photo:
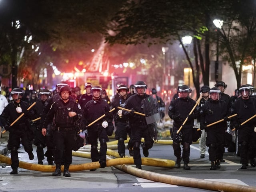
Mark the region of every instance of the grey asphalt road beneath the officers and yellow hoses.
[[[34, 146], [34, 160], [28, 159], [28, 154], [24, 148], [19, 149], [19, 159], [21, 161], [37, 164], [36, 147]], [[128, 155], [128, 151], [126, 151]], [[142, 152], [141, 152], [142, 154]], [[10, 156], [10, 154], [6, 154]], [[142, 155], [143, 156], [143, 155]], [[150, 158], [162, 158], [175, 160], [171, 145], [154, 144], [149, 150]], [[176, 168], [161, 168], [152, 166], [142, 166], [142, 170], [150, 173], [165, 174], [167, 176], [178, 176], [181, 178], [191, 178], [200, 180], [212, 180], [214, 182], [227, 182], [240, 184], [243, 186], [254, 186], [256, 168], [248, 166], [247, 170], [240, 170], [240, 158], [232, 152], [225, 152], [226, 162], [221, 163], [218, 170], [210, 170], [208, 155], [200, 158], [198, 144], [192, 144], [190, 152], [191, 170], [183, 170], [182, 166]], [[82, 164], [91, 162], [90, 159], [73, 157], [72, 164]], [[46, 164], [44, 160], [44, 164]], [[10, 165], [0, 163], [0, 192], [203, 192], [211, 191], [200, 188], [177, 186], [165, 183], [154, 182], [128, 174], [115, 167], [99, 168], [95, 172], [89, 170], [71, 172], [71, 177], [52, 177], [49, 172], [38, 172], [18, 168], [18, 175], [10, 175]], [[185, 184], [185, 182], [184, 182]], [[256, 189], [256, 188], [255, 188]], [[222, 190], [221, 186], [220, 189]], [[242, 191], [238, 190], [238, 191]]]

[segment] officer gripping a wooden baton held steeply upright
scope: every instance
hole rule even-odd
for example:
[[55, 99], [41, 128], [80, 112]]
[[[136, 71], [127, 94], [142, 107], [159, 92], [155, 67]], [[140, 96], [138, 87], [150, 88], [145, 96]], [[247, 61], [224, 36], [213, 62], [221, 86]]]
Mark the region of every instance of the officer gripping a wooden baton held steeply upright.
[[[192, 90], [187, 85], [180, 86], [178, 93], [179, 98], [173, 100], [169, 106], [168, 115], [174, 120], [173, 134], [172, 134], [172, 147], [174, 150], [174, 156], [176, 156], [175, 167], [180, 168], [180, 162], [183, 159], [183, 169], [190, 170], [188, 166], [190, 156], [190, 144], [193, 139], [193, 126], [194, 119], [198, 117], [199, 106], [196, 106], [194, 112], [188, 116], [192, 108], [196, 105], [196, 102], [192, 100], [189, 95]], [[182, 127], [182, 130], [177, 134], [180, 126], [184, 120], [188, 117], [187, 122]], [[183, 152], [181, 156], [180, 142], [183, 145]]]

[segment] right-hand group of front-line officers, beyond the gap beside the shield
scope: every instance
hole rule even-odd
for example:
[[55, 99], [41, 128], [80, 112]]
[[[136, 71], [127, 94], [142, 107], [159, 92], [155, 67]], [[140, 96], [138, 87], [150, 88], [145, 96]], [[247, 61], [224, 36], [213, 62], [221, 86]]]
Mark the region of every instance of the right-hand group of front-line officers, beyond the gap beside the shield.
[[[220, 169], [220, 162], [224, 162], [227, 122], [230, 122], [231, 129], [236, 129], [238, 132], [241, 169], [246, 169], [248, 162], [252, 167], [256, 166], [254, 159], [256, 118], [252, 118], [256, 114], [256, 98], [253, 96], [255, 89], [252, 85], [242, 85], [238, 89], [239, 96], [231, 99], [224, 93], [226, 87], [227, 85], [222, 81], [216, 82], [213, 88], [202, 86], [200, 89], [202, 99], [198, 105], [189, 97], [191, 89], [187, 85], [180, 86], [179, 98], [171, 102], [168, 111], [168, 115], [174, 120], [171, 135], [176, 168], [180, 168], [181, 160], [183, 160], [183, 168], [190, 170], [188, 166], [190, 144], [192, 144], [193, 135], [198, 134], [198, 130], [193, 128], [194, 119], [198, 119], [200, 130], [202, 130], [199, 144], [200, 158], [204, 158], [206, 146], [208, 146], [210, 170]], [[193, 107], [196, 108], [192, 111]], [[187, 121], [182, 126], [186, 118]], [[177, 133], [181, 126], [181, 131]], [[180, 144], [183, 146], [183, 151]]]

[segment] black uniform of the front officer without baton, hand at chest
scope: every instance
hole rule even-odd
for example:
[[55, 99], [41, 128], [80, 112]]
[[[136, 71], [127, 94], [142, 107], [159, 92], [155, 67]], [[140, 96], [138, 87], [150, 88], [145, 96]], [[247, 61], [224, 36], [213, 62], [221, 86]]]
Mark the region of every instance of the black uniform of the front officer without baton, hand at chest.
[[[69, 112], [76, 112], [76, 116], [68, 116]], [[79, 104], [74, 100], [68, 100], [64, 103], [63, 100], [57, 100], [52, 104], [50, 111], [48, 112], [43, 128], [47, 127], [55, 118], [54, 128], [54, 160], [55, 164], [62, 162], [62, 156], [64, 158], [64, 164], [70, 165], [72, 163], [72, 150], [76, 140], [76, 128], [75, 122], [82, 119], [82, 109]], [[63, 152], [65, 153], [63, 154]]]

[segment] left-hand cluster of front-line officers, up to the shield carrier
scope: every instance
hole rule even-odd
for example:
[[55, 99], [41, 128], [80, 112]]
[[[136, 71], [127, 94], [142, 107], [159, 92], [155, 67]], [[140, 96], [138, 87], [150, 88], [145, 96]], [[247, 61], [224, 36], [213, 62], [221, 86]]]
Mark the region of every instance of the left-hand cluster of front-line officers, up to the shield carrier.
[[[72, 94], [68, 84], [60, 82], [56, 85], [56, 94], [50, 96], [51, 92], [48, 89], [42, 89], [38, 94], [38, 100], [32, 105], [22, 100], [24, 93], [20, 88], [14, 88], [10, 92], [11, 102], [0, 116], [5, 130], [9, 132], [8, 150], [12, 160], [10, 174], [18, 174], [20, 144], [24, 146], [29, 159], [34, 159], [34, 142], [37, 146], [38, 164], [43, 164], [46, 157], [48, 165], [53, 165], [53, 162], [56, 164], [52, 176], [60, 176], [61, 165], [64, 165], [63, 176], [70, 177], [72, 150], [77, 149], [78, 145], [81, 147], [78, 139], [81, 130], [88, 132], [87, 140], [91, 144], [92, 162], [99, 162], [100, 168], [105, 168], [108, 136], [114, 131], [113, 114], [120, 158], [125, 157], [124, 140], [129, 133], [129, 153], [134, 157], [136, 167], [141, 169], [140, 145], [143, 145], [144, 156], [148, 156], [148, 149], [152, 148], [154, 141], [145, 117], [134, 114], [134, 111], [143, 112], [141, 101], [150, 96], [146, 94], [147, 85], [143, 81], [138, 81], [134, 85], [134, 91], [130, 91], [124, 84], [120, 85], [118, 96], [111, 106], [102, 99], [100, 86], [86, 83], [85, 88], [86, 94], [81, 95], [77, 102], [77, 96]], [[118, 110], [118, 106], [130, 111]], [[112, 108], [115, 108], [113, 113], [109, 112]], [[145, 138], [143, 144], [140, 142], [142, 137]], [[47, 150], [44, 153], [46, 146]]]

